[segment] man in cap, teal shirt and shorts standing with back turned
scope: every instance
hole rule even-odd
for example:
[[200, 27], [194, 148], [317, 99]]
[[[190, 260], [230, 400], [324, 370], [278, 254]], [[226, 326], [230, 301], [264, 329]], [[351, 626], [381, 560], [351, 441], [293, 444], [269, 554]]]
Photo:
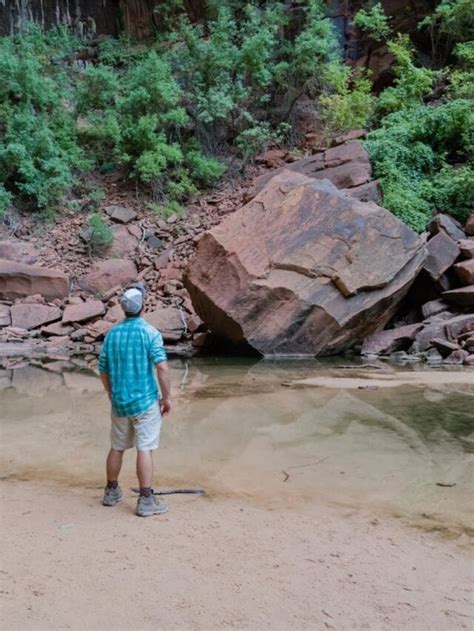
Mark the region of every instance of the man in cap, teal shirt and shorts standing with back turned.
[[[161, 415], [171, 410], [163, 338], [141, 317], [145, 293], [140, 283], [123, 293], [120, 305], [125, 320], [108, 332], [99, 358], [100, 378], [112, 406], [112, 446], [107, 457], [107, 486], [102, 503], [114, 506], [123, 499], [118, 485], [123, 452], [135, 446], [140, 484], [136, 514], [140, 517], [159, 515], [168, 510], [168, 506], [153, 495], [152, 453], [159, 445]], [[155, 380], [155, 367], [160, 390]]]

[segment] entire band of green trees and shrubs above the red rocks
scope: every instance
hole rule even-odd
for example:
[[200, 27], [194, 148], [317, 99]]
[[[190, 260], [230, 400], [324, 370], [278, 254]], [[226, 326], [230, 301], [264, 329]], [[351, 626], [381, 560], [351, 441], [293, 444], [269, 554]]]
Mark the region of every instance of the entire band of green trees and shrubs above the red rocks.
[[[384, 205], [417, 230], [432, 211], [472, 204], [473, 23], [466, 0], [442, 0], [421, 25], [430, 55], [392, 33], [380, 4], [354, 23], [394, 57], [379, 95], [341, 59], [322, 0], [209, 2], [192, 24], [170, 3], [155, 40], [106, 40], [94, 63], [64, 30], [0, 40], [0, 210], [42, 212], [85, 190], [85, 174], [120, 170], [153, 208], [179, 211], [199, 188], [272, 143], [298, 144], [302, 102], [326, 137], [371, 131]], [[296, 16], [296, 17], [295, 17]], [[72, 203], [72, 202], [71, 202]], [[92, 208], [93, 210], [93, 208]]]

